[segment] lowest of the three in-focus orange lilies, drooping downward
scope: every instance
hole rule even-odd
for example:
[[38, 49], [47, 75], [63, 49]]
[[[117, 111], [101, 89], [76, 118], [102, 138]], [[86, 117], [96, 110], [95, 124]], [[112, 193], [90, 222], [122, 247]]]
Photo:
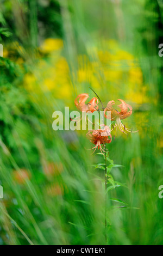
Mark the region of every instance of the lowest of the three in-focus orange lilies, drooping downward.
[[[102, 151], [105, 152], [102, 149], [101, 144], [105, 144], [105, 143], [111, 143], [111, 134], [110, 134], [110, 128], [109, 126], [104, 127], [104, 129], [99, 129], [99, 130], [93, 130], [93, 131], [89, 131], [86, 134], [86, 137], [90, 140], [91, 143], [95, 144], [96, 146], [92, 149], [100, 149], [101, 153]], [[108, 138], [110, 137], [110, 139]], [[93, 151], [93, 153], [95, 152], [95, 150]], [[92, 153], [92, 154], [93, 154]], [[103, 153], [102, 153], [103, 154]], [[103, 154], [104, 155], [104, 154]]]

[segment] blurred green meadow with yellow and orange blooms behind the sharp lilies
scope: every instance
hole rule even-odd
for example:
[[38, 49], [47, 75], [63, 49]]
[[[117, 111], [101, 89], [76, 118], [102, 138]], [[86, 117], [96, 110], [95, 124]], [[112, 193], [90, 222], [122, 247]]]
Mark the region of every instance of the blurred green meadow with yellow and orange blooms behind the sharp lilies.
[[115, 164], [108, 245], [162, 245], [163, 1], [1, 0], [1, 245], [105, 245], [103, 162], [86, 131], [54, 131], [80, 93], [133, 114], [107, 147]]

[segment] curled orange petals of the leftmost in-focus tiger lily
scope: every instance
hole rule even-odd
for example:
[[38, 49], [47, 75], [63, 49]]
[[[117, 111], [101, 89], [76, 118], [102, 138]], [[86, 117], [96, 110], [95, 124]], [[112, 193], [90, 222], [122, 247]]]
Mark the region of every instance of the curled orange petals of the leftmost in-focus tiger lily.
[[94, 111], [98, 110], [98, 99], [96, 97], [93, 97], [89, 103], [85, 103], [85, 101], [89, 98], [89, 95], [87, 93], [79, 94], [74, 101], [76, 107], [80, 111], [91, 111], [92, 113]]

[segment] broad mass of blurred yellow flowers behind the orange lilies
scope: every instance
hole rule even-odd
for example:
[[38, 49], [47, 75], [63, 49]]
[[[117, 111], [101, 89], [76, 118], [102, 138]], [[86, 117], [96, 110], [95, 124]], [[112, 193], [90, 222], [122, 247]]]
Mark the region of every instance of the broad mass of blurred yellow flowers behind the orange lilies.
[[94, 47], [89, 56], [79, 55], [77, 70], [71, 70], [71, 74], [66, 58], [61, 55], [62, 47], [61, 39], [48, 38], [43, 42], [42, 51], [53, 54], [46, 60], [39, 59], [32, 74], [24, 77], [28, 90], [37, 88], [35, 92], [51, 92], [55, 98], [66, 100], [71, 98], [74, 85], [81, 90], [90, 85], [97, 93], [106, 85], [106, 95], [140, 105], [149, 102], [139, 62], [133, 54], [122, 50], [117, 41], [105, 40], [100, 46], [103, 48]]

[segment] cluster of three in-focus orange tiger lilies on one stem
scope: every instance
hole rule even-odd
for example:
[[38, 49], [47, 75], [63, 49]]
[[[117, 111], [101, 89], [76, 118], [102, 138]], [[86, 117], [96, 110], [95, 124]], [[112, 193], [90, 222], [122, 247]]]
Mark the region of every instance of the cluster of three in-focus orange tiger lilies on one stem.
[[[83, 93], [79, 94], [74, 101], [76, 107], [82, 111], [82, 112], [94, 112], [94, 111], [99, 111], [98, 107], [98, 99], [96, 97], [93, 97], [88, 103], [85, 103], [86, 100], [89, 98], [89, 94]], [[118, 99], [118, 101], [121, 102], [118, 107], [121, 109], [121, 111], [118, 111], [113, 107], [115, 105], [115, 101], [111, 100], [108, 102], [106, 108], [104, 109], [104, 117], [106, 119], [110, 119], [112, 121], [115, 121], [115, 125], [112, 125], [112, 130], [117, 130], [118, 129], [127, 134], [127, 132], [133, 132], [132, 129], [128, 129], [125, 125], [122, 124], [122, 119], [125, 119], [127, 117], [130, 117], [130, 115], [133, 113], [133, 108], [127, 104], [124, 100]], [[107, 115], [107, 113], [110, 112], [110, 115]], [[98, 130], [91, 130], [87, 132], [86, 137], [89, 139], [89, 141], [93, 144], [95, 144], [95, 147], [93, 153], [95, 150], [98, 148], [101, 150], [101, 153], [105, 152], [102, 149], [102, 146], [106, 143], [111, 143], [112, 137], [111, 137], [111, 131], [109, 126], [103, 125], [103, 129], [98, 129]], [[135, 131], [137, 132], [137, 131]], [[103, 151], [103, 152], [102, 152]]]

